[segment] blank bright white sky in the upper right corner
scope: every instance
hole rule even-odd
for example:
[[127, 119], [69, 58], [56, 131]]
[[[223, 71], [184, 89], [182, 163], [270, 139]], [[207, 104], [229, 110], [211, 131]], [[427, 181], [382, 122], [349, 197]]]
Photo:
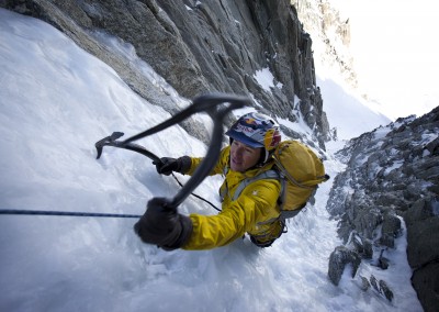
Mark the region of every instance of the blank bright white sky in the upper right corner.
[[331, 0], [351, 27], [361, 93], [391, 119], [439, 105], [439, 40], [434, 0]]

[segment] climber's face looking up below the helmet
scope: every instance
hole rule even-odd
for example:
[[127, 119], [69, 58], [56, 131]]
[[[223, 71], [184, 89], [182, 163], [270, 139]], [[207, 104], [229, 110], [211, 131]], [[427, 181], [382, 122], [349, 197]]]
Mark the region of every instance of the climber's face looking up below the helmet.
[[244, 172], [258, 164], [262, 148], [250, 147], [237, 140], [230, 145], [230, 169]]

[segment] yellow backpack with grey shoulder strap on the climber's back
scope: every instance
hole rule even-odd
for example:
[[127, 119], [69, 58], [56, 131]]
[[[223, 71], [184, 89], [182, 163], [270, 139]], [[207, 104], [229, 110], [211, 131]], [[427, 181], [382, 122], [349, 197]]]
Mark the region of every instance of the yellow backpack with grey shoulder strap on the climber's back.
[[[329, 179], [323, 160], [306, 145], [297, 141], [283, 141], [272, 154], [273, 161], [262, 167], [261, 172], [241, 181], [234, 198], [251, 182], [260, 179], [279, 179], [281, 193], [279, 207], [281, 219], [296, 215], [314, 196], [319, 183]], [[264, 170], [266, 168], [266, 170]]]

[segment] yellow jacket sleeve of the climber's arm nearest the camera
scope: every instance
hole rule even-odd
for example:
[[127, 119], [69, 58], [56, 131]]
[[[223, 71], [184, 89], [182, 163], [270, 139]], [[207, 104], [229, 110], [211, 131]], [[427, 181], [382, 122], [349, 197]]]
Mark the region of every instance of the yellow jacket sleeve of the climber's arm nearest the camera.
[[279, 191], [278, 180], [259, 180], [248, 186], [237, 200], [223, 207], [217, 215], [191, 214], [193, 232], [182, 248], [211, 249], [227, 245], [246, 232], [257, 231], [258, 224], [279, 216]]

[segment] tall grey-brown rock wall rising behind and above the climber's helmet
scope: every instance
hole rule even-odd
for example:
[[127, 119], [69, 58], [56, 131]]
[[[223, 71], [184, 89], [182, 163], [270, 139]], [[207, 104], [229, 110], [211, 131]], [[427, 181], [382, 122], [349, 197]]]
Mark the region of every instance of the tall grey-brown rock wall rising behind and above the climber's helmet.
[[[312, 40], [288, 0], [3, 0], [0, 5], [53, 24], [170, 113], [180, 108], [169, 94], [157, 91], [142, 70], [103, 45], [100, 34], [131, 44], [188, 99], [212, 91], [251, 96], [262, 112], [292, 121], [302, 115], [318, 147], [329, 140]], [[270, 87], [255, 79], [263, 69], [273, 76]], [[209, 141], [200, 130], [204, 125], [194, 122], [187, 123], [187, 130]]]

